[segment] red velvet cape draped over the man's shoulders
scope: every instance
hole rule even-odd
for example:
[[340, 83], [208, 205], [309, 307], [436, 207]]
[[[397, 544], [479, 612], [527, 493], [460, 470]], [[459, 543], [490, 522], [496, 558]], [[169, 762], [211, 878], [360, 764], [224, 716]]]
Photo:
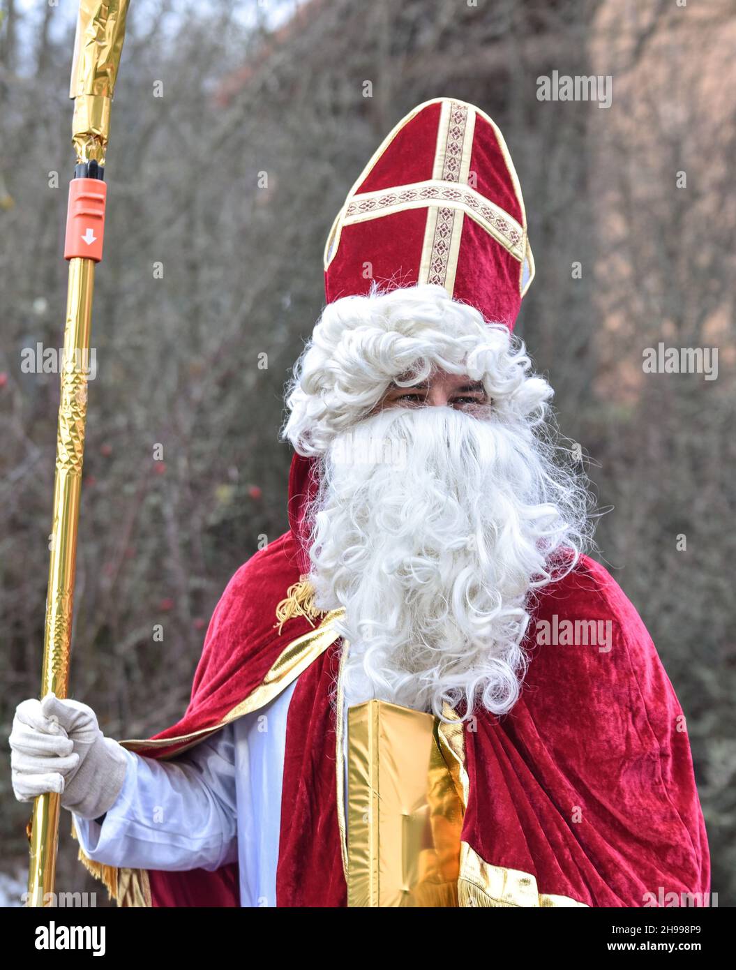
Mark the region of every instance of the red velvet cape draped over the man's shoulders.
[[[305, 569], [310, 463], [295, 459], [291, 529], [231, 579], [209, 624], [189, 706], [154, 739], [218, 724], [309, 630], [277, 602]], [[611, 649], [539, 646], [543, 622], [611, 621]], [[463, 840], [493, 866], [536, 878], [540, 893], [588, 906], [645, 905], [647, 893], [707, 893], [710, 857], [685, 718], [656, 648], [615, 580], [588, 557], [542, 592], [529, 625], [521, 698], [465, 729], [469, 797]], [[329, 692], [339, 644], [301, 674], [289, 706], [278, 906], [345, 906], [336, 810], [336, 734]], [[146, 757], [176, 752], [182, 743]], [[238, 906], [238, 865], [149, 871], [154, 906]], [[661, 892], [660, 892], [661, 890]], [[652, 903], [650, 902], [650, 905]]]

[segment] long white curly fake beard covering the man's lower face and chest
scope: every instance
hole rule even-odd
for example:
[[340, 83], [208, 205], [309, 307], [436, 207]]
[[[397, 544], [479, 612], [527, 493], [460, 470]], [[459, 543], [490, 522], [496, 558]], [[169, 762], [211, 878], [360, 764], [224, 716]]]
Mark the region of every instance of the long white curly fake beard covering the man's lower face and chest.
[[321, 482], [310, 580], [321, 609], [345, 608], [346, 705], [510, 710], [528, 663], [528, 595], [574, 533], [549, 500], [576, 488], [530, 427], [388, 408], [336, 437]]

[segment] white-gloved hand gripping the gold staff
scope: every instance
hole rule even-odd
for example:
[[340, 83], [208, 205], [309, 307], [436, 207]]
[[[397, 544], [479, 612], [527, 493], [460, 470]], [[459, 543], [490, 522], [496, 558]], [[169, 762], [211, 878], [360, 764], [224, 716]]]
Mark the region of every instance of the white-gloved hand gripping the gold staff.
[[11, 768], [18, 801], [59, 792], [61, 804], [81, 819], [104, 815], [125, 781], [123, 748], [105, 737], [91, 707], [48, 694], [16, 707]]

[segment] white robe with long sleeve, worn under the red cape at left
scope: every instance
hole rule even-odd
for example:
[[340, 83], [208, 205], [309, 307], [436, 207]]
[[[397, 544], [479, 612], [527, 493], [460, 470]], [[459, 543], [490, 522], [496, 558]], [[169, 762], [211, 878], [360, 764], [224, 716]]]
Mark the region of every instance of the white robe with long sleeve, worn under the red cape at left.
[[170, 871], [237, 859], [240, 905], [275, 906], [286, 717], [296, 684], [176, 759], [126, 752], [125, 782], [103, 823], [74, 816], [86, 855]]

